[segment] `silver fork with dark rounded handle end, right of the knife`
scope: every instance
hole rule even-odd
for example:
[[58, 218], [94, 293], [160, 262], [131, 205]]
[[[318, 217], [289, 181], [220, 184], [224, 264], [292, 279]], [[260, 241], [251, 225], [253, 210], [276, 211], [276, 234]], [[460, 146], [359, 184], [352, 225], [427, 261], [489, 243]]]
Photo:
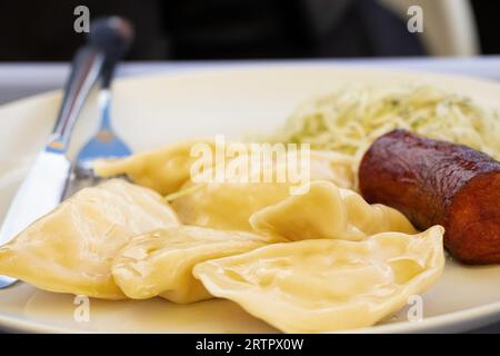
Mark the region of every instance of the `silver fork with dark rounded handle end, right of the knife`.
[[90, 29], [89, 42], [107, 52], [101, 72], [99, 92], [100, 127], [94, 136], [81, 148], [74, 164], [74, 177], [70, 181], [66, 197], [78, 190], [97, 185], [102, 178], [94, 175], [92, 166], [97, 159], [121, 158], [131, 155], [131, 149], [113, 131], [110, 117], [111, 81], [118, 61], [126, 55], [133, 40], [133, 27], [118, 17], [96, 20]]

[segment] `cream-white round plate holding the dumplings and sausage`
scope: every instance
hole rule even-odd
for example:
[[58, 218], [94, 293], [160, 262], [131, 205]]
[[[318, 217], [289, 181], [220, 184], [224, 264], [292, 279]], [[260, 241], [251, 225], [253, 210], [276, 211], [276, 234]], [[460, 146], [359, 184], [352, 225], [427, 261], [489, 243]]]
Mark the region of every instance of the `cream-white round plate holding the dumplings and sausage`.
[[[500, 85], [460, 77], [331, 66], [270, 66], [191, 71], [117, 81], [112, 117], [134, 150], [204, 135], [267, 131], [303, 99], [339, 85], [398, 86], [426, 81], [498, 108]], [[52, 127], [60, 95], [48, 93], [0, 108], [0, 217], [22, 174]], [[72, 154], [97, 126], [94, 97], [76, 128]], [[43, 270], [40, 270], [43, 273]], [[23, 332], [274, 333], [236, 304], [210, 300], [178, 306], [162, 299], [90, 300], [90, 320], [78, 323], [69, 295], [27, 284], [0, 290], [0, 328]], [[408, 309], [408, 307], [407, 307]], [[362, 332], [459, 332], [500, 319], [500, 266], [447, 261], [439, 283], [423, 296], [423, 320], [407, 309]]]

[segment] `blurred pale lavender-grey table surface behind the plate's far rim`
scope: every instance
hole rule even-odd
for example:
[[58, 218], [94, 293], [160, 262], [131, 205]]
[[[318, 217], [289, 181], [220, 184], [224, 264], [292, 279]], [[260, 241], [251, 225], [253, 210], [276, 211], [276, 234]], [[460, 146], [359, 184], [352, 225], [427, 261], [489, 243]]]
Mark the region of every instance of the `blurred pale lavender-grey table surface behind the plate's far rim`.
[[[318, 60], [261, 60], [261, 61], [174, 61], [126, 62], [118, 77], [178, 72], [221, 67], [244, 66], [370, 66], [401, 70], [446, 72], [500, 80], [500, 56], [472, 58], [410, 58], [410, 59], [318, 59]], [[0, 62], [0, 103], [6, 103], [48, 90], [62, 88], [69, 63], [10, 63]], [[0, 332], [1, 333], [1, 332]], [[500, 334], [500, 323], [472, 333]]]

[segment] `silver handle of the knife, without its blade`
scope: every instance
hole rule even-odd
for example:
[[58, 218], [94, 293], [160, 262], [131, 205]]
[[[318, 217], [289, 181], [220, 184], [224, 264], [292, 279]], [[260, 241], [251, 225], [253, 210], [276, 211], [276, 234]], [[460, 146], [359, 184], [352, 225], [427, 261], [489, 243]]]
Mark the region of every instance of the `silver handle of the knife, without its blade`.
[[61, 109], [46, 148], [48, 151], [66, 152], [78, 113], [99, 78], [103, 63], [104, 55], [96, 47], [84, 46], [77, 51], [64, 87]]

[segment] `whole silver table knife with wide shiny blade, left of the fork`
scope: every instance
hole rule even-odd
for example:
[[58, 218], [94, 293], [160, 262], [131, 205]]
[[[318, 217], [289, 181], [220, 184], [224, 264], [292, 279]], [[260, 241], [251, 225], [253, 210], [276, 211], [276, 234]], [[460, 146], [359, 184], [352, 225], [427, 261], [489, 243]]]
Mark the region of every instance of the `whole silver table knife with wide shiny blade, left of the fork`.
[[[56, 126], [9, 207], [0, 229], [0, 246], [61, 202], [71, 172], [66, 156], [71, 131], [103, 63], [103, 52], [93, 46], [80, 48], [74, 56]], [[0, 288], [16, 280], [0, 276]]]

